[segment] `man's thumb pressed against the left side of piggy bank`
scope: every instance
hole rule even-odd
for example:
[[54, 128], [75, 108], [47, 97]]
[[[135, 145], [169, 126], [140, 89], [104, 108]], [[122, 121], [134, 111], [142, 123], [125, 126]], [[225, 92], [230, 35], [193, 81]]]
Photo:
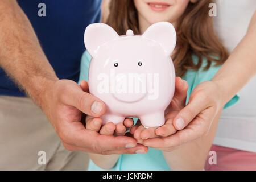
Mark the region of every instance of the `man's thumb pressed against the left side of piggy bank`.
[[[87, 90], [88, 85], [83, 85], [83, 90]], [[63, 104], [74, 106], [83, 113], [93, 117], [100, 117], [106, 111], [106, 106], [97, 97], [82, 91], [79, 85], [69, 85], [60, 94]]]

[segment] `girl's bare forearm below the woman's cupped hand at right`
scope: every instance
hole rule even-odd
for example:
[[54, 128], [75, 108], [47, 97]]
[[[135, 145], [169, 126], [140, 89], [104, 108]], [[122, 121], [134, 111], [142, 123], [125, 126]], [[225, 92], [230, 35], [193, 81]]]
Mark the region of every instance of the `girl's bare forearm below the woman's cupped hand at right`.
[[180, 171], [204, 169], [205, 160], [207, 159], [210, 147], [212, 146], [214, 136], [217, 131], [221, 111], [219, 111], [214, 118], [212, 126], [210, 127], [207, 135], [192, 142], [185, 143], [174, 151], [163, 151], [163, 156], [171, 170]]

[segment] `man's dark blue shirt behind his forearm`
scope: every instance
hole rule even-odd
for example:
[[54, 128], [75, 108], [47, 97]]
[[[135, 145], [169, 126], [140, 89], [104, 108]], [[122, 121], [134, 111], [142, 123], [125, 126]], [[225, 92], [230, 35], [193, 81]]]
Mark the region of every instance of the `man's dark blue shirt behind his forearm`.
[[[85, 51], [84, 31], [100, 22], [101, 0], [18, 0], [28, 16], [44, 53], [57, 77], [78, 81]], [[46, 5], [46, 17], [39, 17], [39, 3]], [[0, 68], [0, 95], [24, 96]]]

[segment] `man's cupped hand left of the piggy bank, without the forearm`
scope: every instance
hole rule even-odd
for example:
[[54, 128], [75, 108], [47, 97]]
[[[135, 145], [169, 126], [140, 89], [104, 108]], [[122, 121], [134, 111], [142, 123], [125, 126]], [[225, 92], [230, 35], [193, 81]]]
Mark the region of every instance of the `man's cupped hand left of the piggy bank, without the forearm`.
[[[127, 136], [101, 135], [86, 130], [80, 122], [82, 113], [100, 117], [105, 104], [88, 92], [86, 81], [81, 87], [71, 80], [59, 80], [46, 88], [42, 109], [52, 123], [67, 150], [97, 154], [134, 154], [145, 146], [137, 146], [135, 139]], [[137, 146], [137, 147], [136, 147]]]

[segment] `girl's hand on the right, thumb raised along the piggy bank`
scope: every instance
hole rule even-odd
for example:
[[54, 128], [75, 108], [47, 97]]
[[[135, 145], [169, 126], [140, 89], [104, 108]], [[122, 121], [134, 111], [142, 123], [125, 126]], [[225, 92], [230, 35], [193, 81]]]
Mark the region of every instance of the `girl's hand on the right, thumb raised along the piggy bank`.
[[[177, 115], [177, 113], [179, 113], [179, 111], [185, 106], [187, 90], [187, 82], [181, 80], [180, 77], [176, 77], [176, 88], [174, 98], [172, 98], [172, 101], [165, 112], [166, 123], [158, 129], [145, 129], [138, 121], [137, 124], [130, 130], [130, 133], [133, 134], [134, 138], [137, 139], [138, 143], [146, 145], [148, 141], [154, 142], [164, 140], [165, 137], [168, 137], [176, 133], [177, 130], [175, 129], [172, 121]], [[162, 148], [161, 145], [156, 144], [155, 142], [150, 144], [152, 148], [158, 148], [159, 150], [170, 150], [170, 148]]]

